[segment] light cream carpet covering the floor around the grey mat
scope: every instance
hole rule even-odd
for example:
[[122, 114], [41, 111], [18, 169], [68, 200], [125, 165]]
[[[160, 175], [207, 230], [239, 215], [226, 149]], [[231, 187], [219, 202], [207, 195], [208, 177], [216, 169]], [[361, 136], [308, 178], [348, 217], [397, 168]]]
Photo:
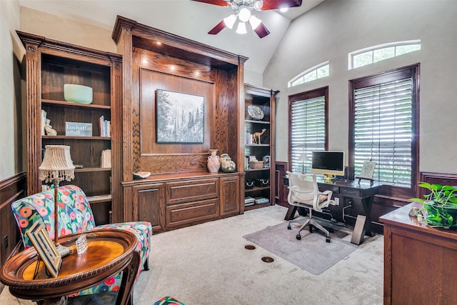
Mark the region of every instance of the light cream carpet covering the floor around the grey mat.
[[[381, 235], [367, 237], [319, 275], [260, 247], [244, 249], [250, 244], [244, 235], [283, 222], [286, 210], [268, 206], [154, 235], [150, 270], [141, 273], [134, 287], [135, 305], [151, 305], [166, 295], [186, 305], [383, 304]], [[273, 263], [261, 261], [263, 256], [273, 257]], [[0, 304], [31, 302], [4, 289]]]

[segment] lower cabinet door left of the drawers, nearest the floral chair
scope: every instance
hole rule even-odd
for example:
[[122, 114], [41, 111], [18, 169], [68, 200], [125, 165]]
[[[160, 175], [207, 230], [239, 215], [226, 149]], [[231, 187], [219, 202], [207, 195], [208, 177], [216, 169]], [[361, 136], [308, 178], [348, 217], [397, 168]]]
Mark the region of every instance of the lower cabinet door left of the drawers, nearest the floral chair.
[[133, 209], [136, 221], [149, 221], [152, 230], [165, 230], [165, 184], [133, 186]]

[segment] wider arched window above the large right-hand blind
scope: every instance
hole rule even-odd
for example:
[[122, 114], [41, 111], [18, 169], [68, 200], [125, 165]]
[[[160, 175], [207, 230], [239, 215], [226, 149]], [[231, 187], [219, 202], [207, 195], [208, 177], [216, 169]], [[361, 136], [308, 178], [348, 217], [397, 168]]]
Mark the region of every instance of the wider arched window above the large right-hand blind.
[[421, 40], [396, 41], [379, 44], [369, 48], [353, 51], [348, 54], [349, 70], [373, 64], [421, 49]]

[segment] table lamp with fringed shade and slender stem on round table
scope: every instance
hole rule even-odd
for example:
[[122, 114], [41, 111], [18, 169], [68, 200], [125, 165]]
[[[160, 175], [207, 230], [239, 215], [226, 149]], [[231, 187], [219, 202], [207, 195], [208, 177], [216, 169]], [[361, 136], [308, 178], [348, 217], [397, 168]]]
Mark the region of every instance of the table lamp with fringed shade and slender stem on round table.
[[57, 189], [60, 181], [74, 179], [74, 165], [71, 161], [70, 146], [46, 145], [44, 159], [39, 166], [39, 179], [54, 184], [54, 244], [61, 256], [65, 256], [66, 247], [59, 244], [59, 206], [57, 205]]

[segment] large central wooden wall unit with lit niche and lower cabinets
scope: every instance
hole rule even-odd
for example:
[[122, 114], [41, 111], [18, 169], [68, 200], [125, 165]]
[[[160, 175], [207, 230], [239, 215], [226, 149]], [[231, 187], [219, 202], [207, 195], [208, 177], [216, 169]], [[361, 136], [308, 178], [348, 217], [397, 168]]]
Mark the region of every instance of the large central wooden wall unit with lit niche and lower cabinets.
[[[246, 58], [121, 16], [112, 37], [124, 67], [124, 219], [150, 221], [159, 232], [242, 214]], [[201, 143], [157, 141], [158, 90], [203, 96]], [[209, 173], [209, 149], [229, 154], [236, 171]], [[151, 176], [134, 180], [137, 171]]]

